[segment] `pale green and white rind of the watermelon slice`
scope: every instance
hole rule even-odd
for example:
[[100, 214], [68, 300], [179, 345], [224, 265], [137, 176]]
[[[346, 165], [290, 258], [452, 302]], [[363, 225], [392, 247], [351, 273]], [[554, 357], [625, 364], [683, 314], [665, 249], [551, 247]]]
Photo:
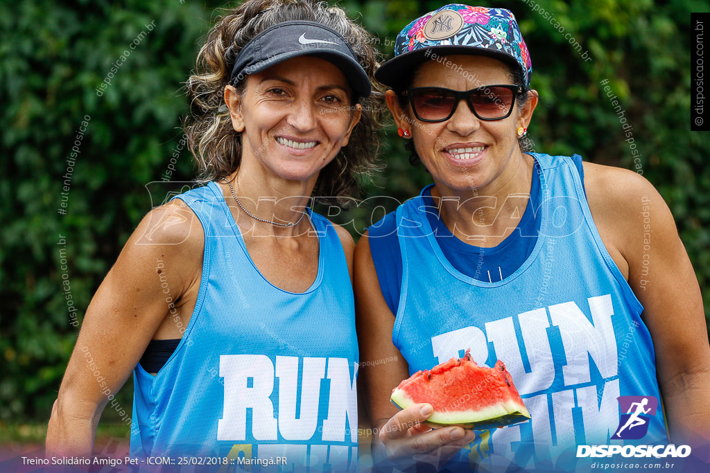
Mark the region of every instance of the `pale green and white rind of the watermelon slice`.
[[[409, 399], [409, 396], [406, 396], [403, 391], [398, 389], [395, 389], [392, 393], [390, 401], [400, 410], [415, 404]], [[447, 413], [435, 411], [423, 423], [432, 428], [460, 425], [463, 428], [486, 430], [525, 422], [529, 419], [530, 413], [528, 413], [525, 405], [520, 406], [520, 404], [511, 400], [483, 411], [451, 411]]]

